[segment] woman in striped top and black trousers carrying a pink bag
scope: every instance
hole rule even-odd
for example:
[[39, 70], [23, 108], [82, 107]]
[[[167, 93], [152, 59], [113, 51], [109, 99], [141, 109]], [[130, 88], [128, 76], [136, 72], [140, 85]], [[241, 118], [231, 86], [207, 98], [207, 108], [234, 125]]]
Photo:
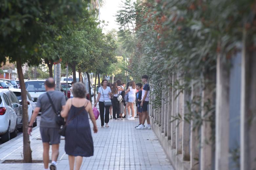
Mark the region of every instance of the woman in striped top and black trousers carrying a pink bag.
[[[101, 127], [104, 127], [104, 122], [106, 123], [105, 127], [109, 127], [109, 108], [110, 106], [104, 105], [104, 99], [110, 99], [109, 96], [112, 96], [112, 92], [110, 87], [108, 85], [108, 80], [103, 79], [101, 81], [101, 87], [98, 90], [98, 97], [94, 104], [96, 107], [97, 103], [99, 102], [99, 114], [100, 114], [100, 121], [101, 121]], [[104, 96], [103, 96], [104, 95]], [[104, 121], [104, 111], [105, 111], [105, 121]]]

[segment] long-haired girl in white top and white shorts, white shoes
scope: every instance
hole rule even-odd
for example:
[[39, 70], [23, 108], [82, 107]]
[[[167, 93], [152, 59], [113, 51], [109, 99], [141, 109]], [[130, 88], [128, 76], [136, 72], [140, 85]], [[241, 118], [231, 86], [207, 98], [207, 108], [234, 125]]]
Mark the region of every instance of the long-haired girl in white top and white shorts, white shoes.
[[[134, 102], [136, 100], [136, 88], [135, 88], [135, 82], [130, 81], [130, 87], [126, 90], [125, 94], [128, 93], [128, 120], [135, 120], [134, 118]], [[130, 110], [132, 110], [132, 115], [130, 115]]]

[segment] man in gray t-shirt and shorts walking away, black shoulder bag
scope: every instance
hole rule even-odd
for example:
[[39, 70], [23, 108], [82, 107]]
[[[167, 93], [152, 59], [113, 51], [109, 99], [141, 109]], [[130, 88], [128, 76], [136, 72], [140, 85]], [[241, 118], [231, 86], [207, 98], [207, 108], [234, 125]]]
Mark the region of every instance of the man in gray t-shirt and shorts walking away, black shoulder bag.
[[55, 81], [53, 78], [48, 78], [45, 81], [46, 93], [41, 94], [37, 100], [36, 108], [32, 114], [31, 121], [28, 128], [28, 133], [31, 135], [32, 124], [41, 109], [40, 133], [43, 142], [43, 160], [44, 168], [48, 169], [49, 164], [49, 148], [52, 144], [52, 164], [50, 169], [56, 170], [56, 161], [59, 155], [60, 135], [58, 133], [59, 126], [55, 122], [56, 113], [49, 101], [47, 93], [50, 95], [55, 110], [63, 110], [66, 104], [66, 98], [63, 93], [55, 91]]

